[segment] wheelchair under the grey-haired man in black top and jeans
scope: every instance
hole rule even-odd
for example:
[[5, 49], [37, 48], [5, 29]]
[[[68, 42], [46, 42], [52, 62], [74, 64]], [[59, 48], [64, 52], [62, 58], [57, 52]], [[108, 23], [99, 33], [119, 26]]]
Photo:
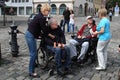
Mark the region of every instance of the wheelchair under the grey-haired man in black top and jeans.
[[[62, 53], [66, 53], [65, 50], [61, 50]], [[51, 51], [50, 49], [47, 48], [45, 45], [45, 38], [42, 37], [40, 39], [40, 44], [37, 49], [37, 59], [36, 59], [36, 64], [38, 65], [43, 65], [42, 69], [48, 71], [48, 75], [52, 76], [54, 74], [54, 71], [56, 69], [56, 62], [54, 58], [55, 53]], [[64, 64], [66, 55], [61, 54], [61, 62]], [[42, 62], [40, 64], [40, 61]]]

